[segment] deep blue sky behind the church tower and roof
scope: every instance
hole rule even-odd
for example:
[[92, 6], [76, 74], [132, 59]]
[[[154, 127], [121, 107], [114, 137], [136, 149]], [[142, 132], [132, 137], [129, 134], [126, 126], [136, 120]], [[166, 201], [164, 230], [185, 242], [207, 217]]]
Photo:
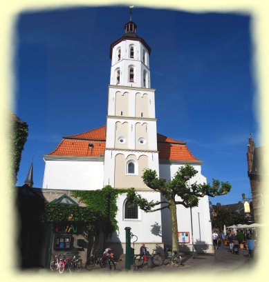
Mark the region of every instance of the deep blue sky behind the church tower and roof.
[[[24, 184], [34, 158], [34, 186], [41, 188], [43, 155], [63, 136], [106, 123], [109, 47], [128, 20], [123, 6], [19, 15], [14, 111], [28, 123], [29, 136], [17, 185]], [[158, 132], [186, 141], [203, 161], [208, 182], [232, 184], [212, 203], [240, 201], [242, 192], [249, 197], [249, 134], [261, 145], [250, 15], [135, 8], [133, 21], [152, 49]]]

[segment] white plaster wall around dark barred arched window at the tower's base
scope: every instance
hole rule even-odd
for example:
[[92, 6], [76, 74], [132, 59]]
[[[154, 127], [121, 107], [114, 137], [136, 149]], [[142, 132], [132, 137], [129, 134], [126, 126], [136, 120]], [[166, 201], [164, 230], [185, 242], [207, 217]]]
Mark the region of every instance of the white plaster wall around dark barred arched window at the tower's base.
[[[148, 199], [149, 201], [160, 201], [160, 193], [158, 192], [139, 192], [139, 194]], [[116, 220], [118, 221], [119, 231], [115, 232], [110, 239], [111, 242], [121, 241], [125, 243], [125, 230], [124, 228], [130, 227], [131, 232], [138, 237], [138, 242], [152, 242], [159, 243], [162, 241], [161, 237], [161, 216], [158, 212], [143, 212], [138, 209], [138, 219], [124, 219], [123, 208], [124, 201], [126, 200], [126, 194], [118, 196], [117, 205], [118, 212]], [[160, 229], [160, 232], [156, 232]]]

